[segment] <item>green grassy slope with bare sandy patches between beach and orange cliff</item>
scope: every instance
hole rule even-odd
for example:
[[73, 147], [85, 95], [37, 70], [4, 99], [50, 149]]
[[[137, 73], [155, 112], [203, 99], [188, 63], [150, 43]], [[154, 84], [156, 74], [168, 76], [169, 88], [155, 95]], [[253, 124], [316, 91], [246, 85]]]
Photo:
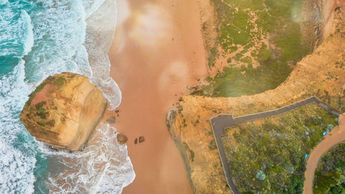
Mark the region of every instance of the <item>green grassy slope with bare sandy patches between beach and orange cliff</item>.
[[[213, 5], [218, 38], [208, 52], [208, 66], [214, 66], [219, 55], [235, 56], [192, 95], [238, 97], [276, 88], [292, 70], [288, 61], [296, 63], [312, 49], [297, 22], [302, 0], [213, 0]], [[217, 50], [219, 46], [222, 50]], [[260, 64], [257, 68], [253, 68], [255, 61]]]

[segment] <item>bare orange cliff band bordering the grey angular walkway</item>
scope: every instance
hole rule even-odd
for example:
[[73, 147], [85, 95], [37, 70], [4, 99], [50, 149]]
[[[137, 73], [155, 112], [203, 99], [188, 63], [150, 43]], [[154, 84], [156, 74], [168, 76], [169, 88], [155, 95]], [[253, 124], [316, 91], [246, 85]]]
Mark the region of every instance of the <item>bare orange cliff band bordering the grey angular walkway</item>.
[[335, 6], [334, 1], [315, 2], [321, 6], [315, 10], [319, 16], [314, 14], [317, 19], [315, 50], [297, 62], [284, 83], [273, 90], [242, 97], [188, 95], [181, 97], [179, 106], [168, 112], [166, 124], [184, 158], [194, 193], [231, 193], [210, 127], [210, 117], [219, 113], [239, 116], [272, 110], [311, 95], [335, 108], [345, 103], [344, 14], [335, 12], [339, 5]]

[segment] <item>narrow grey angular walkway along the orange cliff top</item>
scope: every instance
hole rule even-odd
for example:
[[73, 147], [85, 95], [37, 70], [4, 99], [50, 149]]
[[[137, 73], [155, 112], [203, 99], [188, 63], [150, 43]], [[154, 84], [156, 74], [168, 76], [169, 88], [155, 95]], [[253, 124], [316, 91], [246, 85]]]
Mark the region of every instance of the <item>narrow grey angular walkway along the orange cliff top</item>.
[[339, 113], [339, 111], [335, 110], [331, 106], [324, 104], [324, 102], [318, 97], [312, 96], [307, 99], [297, 101], [293, 104], [283, 106], [282, 108], [278, 108], [275, 110], [268, 110], [262, 113], [255, 113], [252, 115], [244, 115], [240, 117], [233, 117], [233, 114], [219, 114], [210, 119], [213, 135], [215, 135], [215, 141], [216, 141], [219, 156], [221, 159], [221, 165], [223, 166], [223, 169], [224, 169], [226, 182], [228, 182], [228, 186], [230, 187], [231, 191], [233, 191], [234, 194], [239, 194], [239, 191], [237, 187], [235, 186], [235, 184], [233, 183], [233, 177], [231, 177], [231, 174], [228, 168], [228, 162], [226, 160], [226, 153], [224, 150], [224, 146], [221, 143], [221, 137], [226, 136], [225, 129], [233, 127], [236, 124], [243, 123], [243, 122], [250, 122], [257, 119], [264, 119], [267, 117], [282, 115], [291, 110], [295, 110], [296, 108], [300, 108], [302, 106], [306, 106], [311, 103], [317, 104], [321, 108], [324, 108], [326, 111], [328, 111], [328, 113], [331, 113], [333, 115], [339, 116], [341, 114]]

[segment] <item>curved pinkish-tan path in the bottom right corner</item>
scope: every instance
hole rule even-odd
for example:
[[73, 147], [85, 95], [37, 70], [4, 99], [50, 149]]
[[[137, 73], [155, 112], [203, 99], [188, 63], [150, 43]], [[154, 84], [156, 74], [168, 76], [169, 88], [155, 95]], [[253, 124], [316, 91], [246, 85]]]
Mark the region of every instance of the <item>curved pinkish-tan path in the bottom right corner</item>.
[[329, 148], [345, 141], [345, 113], [339, 116], [339, 125], [333, 128], [331, 133], [325, 136], [314, 149], [311, 151], [311, 155], [308, 157], [308, 162], [306, 164], [306, 181], [304, 182], [303, 193], [313, 194], [313, 180], [314, 173], [319, 163], [319, 159], [328, 151]]

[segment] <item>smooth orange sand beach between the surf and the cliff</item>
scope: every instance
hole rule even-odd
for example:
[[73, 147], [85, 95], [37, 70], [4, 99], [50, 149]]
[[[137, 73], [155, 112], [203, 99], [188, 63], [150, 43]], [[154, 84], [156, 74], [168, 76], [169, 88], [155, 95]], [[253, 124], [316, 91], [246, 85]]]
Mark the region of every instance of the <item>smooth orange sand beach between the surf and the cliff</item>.
[[[207, 77], [196, 0], [117, 1], [110, 75], [122, 92], [115, 127], [128, 137], [136, 177], [123, 193], [193, 193], [166, 128], [166, 112], [186, 86]], [[135, 144], [134, 139], [145, 141]]]

